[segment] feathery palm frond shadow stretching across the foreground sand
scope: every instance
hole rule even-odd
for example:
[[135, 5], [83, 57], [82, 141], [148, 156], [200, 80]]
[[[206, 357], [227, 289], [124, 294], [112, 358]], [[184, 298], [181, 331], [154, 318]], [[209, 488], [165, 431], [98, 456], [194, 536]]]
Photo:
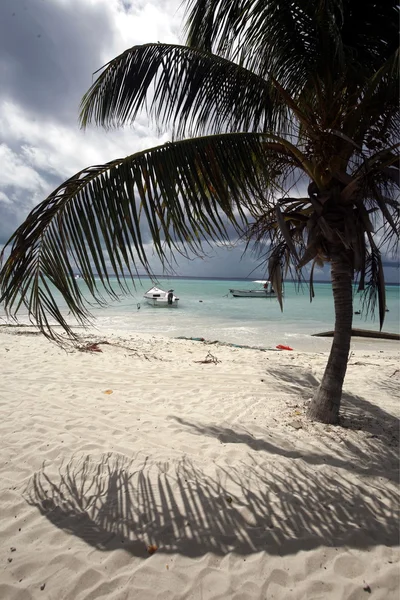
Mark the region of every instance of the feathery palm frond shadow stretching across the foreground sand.
[[321, 545], [398, 543], [397, 494], [322, 465], [248, 457], [204, 473], [187, 459], [151, 463], [118, 454], [42, 468], [27, 502], [56, 527], [103, 551], [286, 555]]

